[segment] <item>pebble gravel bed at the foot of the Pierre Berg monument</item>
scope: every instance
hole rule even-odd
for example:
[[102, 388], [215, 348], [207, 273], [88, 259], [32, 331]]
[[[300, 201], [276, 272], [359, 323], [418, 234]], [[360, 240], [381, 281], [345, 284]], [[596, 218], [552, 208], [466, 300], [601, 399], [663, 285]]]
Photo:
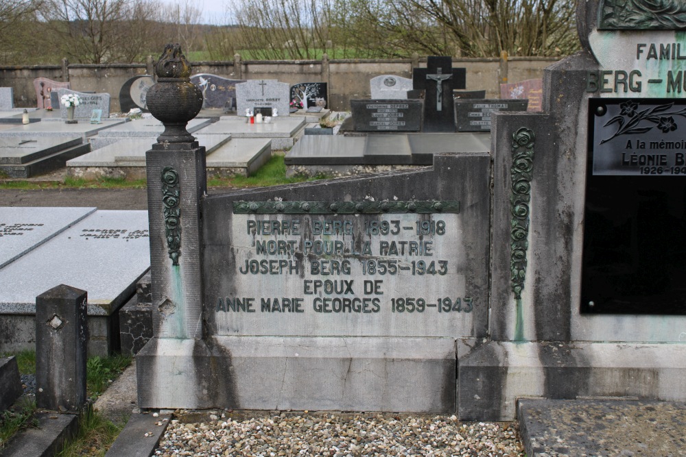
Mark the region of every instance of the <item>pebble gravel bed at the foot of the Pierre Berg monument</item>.
[[461, 423], [455, 416], [281, 413], [207, 422], [174, 419], [155, 456], [523, 457], [510, 424]]

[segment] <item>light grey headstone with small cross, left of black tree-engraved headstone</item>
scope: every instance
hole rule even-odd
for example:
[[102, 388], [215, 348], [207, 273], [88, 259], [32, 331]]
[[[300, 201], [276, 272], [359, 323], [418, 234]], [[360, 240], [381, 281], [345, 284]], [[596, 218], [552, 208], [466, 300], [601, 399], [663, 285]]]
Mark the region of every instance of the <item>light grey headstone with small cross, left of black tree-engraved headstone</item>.
[[276, 108], [279, 116], [289, 114], [290, 87], [276, 79], [250, 79], [236, 84], [236, 103], [239, 116], [245, 116], [246, 110], [255, 108]]

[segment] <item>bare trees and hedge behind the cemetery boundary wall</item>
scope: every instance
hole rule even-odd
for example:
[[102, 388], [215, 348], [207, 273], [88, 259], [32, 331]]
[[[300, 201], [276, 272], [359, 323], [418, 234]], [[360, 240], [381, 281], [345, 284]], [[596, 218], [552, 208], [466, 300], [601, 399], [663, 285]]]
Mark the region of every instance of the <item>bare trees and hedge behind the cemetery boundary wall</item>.
[[[1, 64], [143, 62], [166, 42], [191, 60], [496, 57], [576, 51], [569, 0], [0, 0]], [[216, 19], [219, 19], [217, 21]]]

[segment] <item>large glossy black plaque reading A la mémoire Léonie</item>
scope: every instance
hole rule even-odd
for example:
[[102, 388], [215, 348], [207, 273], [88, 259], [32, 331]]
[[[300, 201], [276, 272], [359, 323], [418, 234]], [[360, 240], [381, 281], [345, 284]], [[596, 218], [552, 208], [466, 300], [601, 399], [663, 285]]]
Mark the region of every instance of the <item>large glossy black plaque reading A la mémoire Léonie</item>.
[[686, 100], [589, 101], [581, 312], [686, 314]]

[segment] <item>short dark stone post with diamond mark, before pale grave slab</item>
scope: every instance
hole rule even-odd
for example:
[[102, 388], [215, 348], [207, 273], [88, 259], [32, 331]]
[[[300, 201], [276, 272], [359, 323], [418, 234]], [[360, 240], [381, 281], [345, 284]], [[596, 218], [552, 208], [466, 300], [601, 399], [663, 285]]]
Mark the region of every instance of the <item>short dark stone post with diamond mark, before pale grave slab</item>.
[[88, 294], [61, 284], [36, 297], [36, 406], [75, 411], [86, 402]]

